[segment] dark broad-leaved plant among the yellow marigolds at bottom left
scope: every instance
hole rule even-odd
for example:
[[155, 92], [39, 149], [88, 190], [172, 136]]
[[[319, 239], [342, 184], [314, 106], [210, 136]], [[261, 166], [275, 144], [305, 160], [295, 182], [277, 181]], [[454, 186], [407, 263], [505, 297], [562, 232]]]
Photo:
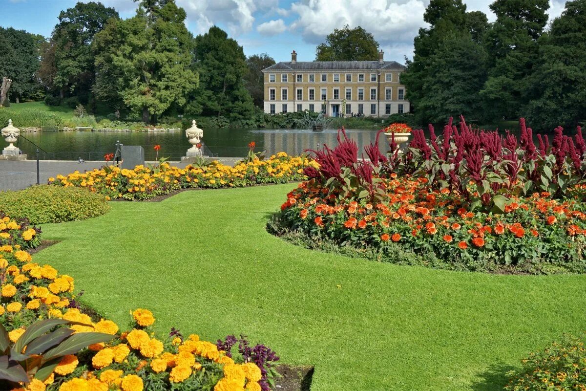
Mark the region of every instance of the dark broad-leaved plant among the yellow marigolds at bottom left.
[[12, 344], [8, 332], [0, 324], [0, 385], [19, 387], [32, 379], [44, 382], [63, 356], [76, 354], [92, 344], [108, 342], [114, 335], [101, 332], [73, 334], [62, 325], [84, 325], [64, 319], [37, 321]]

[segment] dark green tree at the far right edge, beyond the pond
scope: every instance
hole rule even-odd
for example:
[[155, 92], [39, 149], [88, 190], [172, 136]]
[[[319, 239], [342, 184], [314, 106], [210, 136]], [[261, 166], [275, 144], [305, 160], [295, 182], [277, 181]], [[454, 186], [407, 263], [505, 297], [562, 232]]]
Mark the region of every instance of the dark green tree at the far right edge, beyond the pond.
[[530, 80], [529, 123], [540, 130], [575, 127], [586, 120], [586, 0], [568, 1], [541, 36]]

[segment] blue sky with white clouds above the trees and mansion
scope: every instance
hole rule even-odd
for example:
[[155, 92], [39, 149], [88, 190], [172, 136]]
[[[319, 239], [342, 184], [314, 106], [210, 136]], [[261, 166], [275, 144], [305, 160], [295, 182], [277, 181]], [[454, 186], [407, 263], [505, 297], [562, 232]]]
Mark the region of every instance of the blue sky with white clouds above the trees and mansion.
[[[85, 0], [82, 0], [85, 2]], [[94, 0], [96, 1], [96, 0]], [[0, 0], [0, 26], [49, 36], [59, 12], [77, 0]], [[134, 15], [132, 0], [101, 0], [122, 18]], [[468, 11], [482, 11], [489, 21], [492, 0], [464, 0]], [[267, 53], [275, 61], [315, 59], [315, 47], [335, 28], [362, 26], [374, 35], [385, 60], [404, 63], [413, 57], [413, 38], [425, 27], [423, 13], [429, 0], [176, 0], [187, 13], [194, 34], [217, 25], [244, 47], [247, 56]], [[561, 14], [565, 1], [550, 0], [550, 21]]]

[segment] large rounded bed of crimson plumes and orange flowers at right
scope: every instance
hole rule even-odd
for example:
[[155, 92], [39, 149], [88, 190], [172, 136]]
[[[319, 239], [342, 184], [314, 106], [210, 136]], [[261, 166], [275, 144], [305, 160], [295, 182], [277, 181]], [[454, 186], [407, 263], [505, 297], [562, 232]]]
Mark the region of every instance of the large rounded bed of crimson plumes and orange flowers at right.
[[434, 253], [448, 268], [585, 273], [580, 129], [580, 147], [558, 128], [553, 145], [537, 149], [522, 128], [517, 147], [512, 135], [471, 130], [462, 118], [443, 137], [431, 129], [430, 141], [414, 131], [403, 154], [370, 145], [368, 161], [342, 130], [336, 148], [315, 151], [321, 168], [305, 170], [311, 179], [288, 194], [278, 221], [342, 246]]

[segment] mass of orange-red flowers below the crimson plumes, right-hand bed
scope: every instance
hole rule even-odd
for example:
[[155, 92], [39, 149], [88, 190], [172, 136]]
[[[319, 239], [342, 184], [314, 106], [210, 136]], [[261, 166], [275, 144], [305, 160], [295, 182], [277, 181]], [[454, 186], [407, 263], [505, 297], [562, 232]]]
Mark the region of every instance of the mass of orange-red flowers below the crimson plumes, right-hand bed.
[[534, 193], [510, 198], [504, 213], [493, 214], [467, 209], [457, 191], [431, 189], [425, 178], [380, 181], [384, 192], [376, 201], [340, 198], [341, 189], [317, 179], [300, 183], [281, 206], [281, 222], [318, 240], [432, 251], [469, 270], [586, 273], [586, 205], [578, 200]]

